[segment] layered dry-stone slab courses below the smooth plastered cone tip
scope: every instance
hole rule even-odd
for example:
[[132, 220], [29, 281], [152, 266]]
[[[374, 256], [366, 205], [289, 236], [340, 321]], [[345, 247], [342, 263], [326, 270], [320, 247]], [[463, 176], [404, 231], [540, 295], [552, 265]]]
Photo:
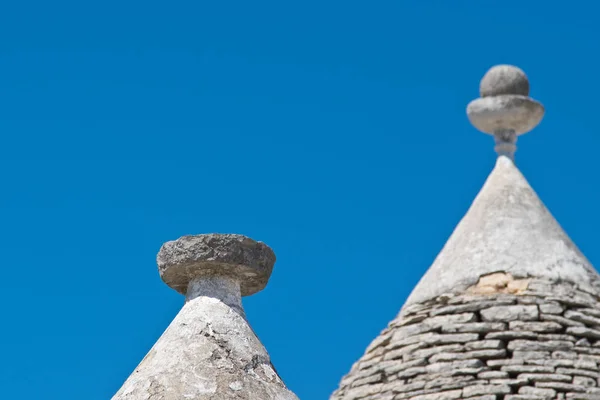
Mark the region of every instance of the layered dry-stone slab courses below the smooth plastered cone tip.
[[600, 294], [509, 286], [405, 307], [331, 400], [600, 400]]

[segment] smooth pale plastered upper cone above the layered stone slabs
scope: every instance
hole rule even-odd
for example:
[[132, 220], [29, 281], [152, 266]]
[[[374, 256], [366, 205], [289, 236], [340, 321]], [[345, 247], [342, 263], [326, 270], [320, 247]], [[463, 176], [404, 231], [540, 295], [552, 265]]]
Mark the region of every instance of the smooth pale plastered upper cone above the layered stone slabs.
[[483, 275], [510, 273], [600, 290], [600, 276], [513, 161], [496, 166], [405, 307], [462, 292]]

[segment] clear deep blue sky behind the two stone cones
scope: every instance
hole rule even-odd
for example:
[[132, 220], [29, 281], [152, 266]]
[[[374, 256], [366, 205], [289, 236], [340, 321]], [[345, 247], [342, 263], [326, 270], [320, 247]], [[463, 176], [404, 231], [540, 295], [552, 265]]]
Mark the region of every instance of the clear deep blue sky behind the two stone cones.
[[494, 164], [465, 107], [497, 63], [546, 107], [517, 162], [598, 265], [592, 1], [0, 6], [0, 384], [109, 399], [182, 305], [155, 257], [242, 233], [278, 261], [248, 318], [325, 399]]

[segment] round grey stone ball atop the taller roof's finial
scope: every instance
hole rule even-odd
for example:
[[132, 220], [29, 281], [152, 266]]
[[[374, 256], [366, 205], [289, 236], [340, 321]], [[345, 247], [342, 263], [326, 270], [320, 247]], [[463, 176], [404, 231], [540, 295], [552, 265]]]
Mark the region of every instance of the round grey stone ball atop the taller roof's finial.
[[479, 84], [481, 97], [500, 95], [529, 96], [529, 80], [520, 68], [497, 65], [490, 68]]

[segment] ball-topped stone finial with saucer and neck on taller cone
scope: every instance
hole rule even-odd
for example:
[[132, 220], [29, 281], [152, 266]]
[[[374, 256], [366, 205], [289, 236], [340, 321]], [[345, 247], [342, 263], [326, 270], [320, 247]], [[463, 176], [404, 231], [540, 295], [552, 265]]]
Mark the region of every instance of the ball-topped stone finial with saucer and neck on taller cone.
[[492, 67], [479, 86], [481, 97], [467, 106], [471, 123], [494, 135], [499, 156], [514, 159], [517, 136], [531, 131], [544, 116], [544, 107], [529, 97], [529, 80], [512, 65]]

